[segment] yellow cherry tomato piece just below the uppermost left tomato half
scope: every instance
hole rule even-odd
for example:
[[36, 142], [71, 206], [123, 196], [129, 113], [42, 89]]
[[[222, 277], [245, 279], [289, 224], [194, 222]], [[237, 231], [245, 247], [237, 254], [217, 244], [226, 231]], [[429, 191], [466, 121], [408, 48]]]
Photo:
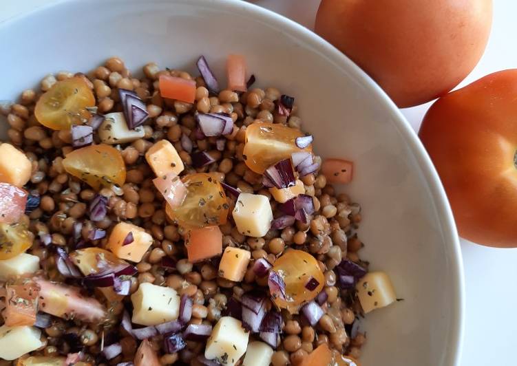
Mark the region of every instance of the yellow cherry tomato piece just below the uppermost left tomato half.
[[106, 144], [90, 145], [68, 153], [63, 166], [65, 171], [94, 189], [112, 184], [122, 186], [126, 180], [126, 166], [120, 151]]

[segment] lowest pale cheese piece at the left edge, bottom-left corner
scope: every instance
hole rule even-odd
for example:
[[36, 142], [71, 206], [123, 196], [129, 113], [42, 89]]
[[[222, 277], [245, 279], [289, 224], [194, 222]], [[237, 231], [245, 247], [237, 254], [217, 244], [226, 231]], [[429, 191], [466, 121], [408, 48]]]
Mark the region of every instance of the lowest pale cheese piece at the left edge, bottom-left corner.
[[36, 327], [0, 327], [0, 358], [15, 360], [43, 345], [39, 337], [41, 331]]

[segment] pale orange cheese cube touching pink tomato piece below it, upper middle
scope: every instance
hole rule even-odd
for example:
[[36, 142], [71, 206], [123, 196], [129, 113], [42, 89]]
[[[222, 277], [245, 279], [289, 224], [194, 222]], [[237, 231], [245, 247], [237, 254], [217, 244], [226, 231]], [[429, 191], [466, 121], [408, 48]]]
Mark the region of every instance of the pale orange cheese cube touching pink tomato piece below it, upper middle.
[[184, 169], [178, 151], [167, 140], [160, 140], [151, 146], [145, 153], [145, 159], [157, 177], [163, 177], [167, 173], [180, 175]]

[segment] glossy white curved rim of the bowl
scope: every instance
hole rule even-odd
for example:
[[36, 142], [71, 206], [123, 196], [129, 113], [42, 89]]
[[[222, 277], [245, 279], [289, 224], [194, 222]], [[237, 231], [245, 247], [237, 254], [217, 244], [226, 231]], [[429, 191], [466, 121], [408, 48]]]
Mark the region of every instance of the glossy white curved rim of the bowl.
[[[30, 17], [41, 12], [43, 10], [49, 10], [51, 8], [62, 6], [65, 3], [79, 2], [84, 3], [86, 0], [55, 0], [49, 3], [45, 3], [41, 6], [28, 11], [17, 14], [14, 17], [4, 19], [0, 21], [0, 33], [9, 28], [10, 25], [20, 21], [25, 17]], [[87, 0], [91, 1], [91, 0]], [[111, 2], [136, 2], [138, 0], [103, 0]], [[92, 3], [94, 1], [91, 1]], [[140, 3], [140, 1], [138, 1]], [[207, 0], [146, 0], [145, 3], [158, 2], [158, 3], [185, 3], [185, 4], [202, 4], [203, 6], [215, 6], [225, 8], [224, 10], [236, 12], [240, 14], [248, 15], [253, 13], [253, 17], [257, 17], [262, 23], [281, 28], [283, 32], [296, 36], [299, 41], [306, 43], [316, 50], [319, 50], [321, 54], [324, 54], [328, 60], [332, 61], [335, 67], [338, 67], [343, 72], [346, 70], [350, 74], [355, 75], [357, 80], [360, 80], [363, 87], [372, 94], [373, 98], [377, 98], [379, 103], [386, 106], [386, 112], [389, 113], [390, 118], [394, 121], [394, 127], [396, 127], [401, 133], [401, 136], [408, 148], [414, 155], [417, 164], [421, 167], [425, 182], [428, 184], [432, 199], [436, 206], [436, 211], [439, 214], [439, 222], [443, 229], [443, 240], [445, 244], [450, 248], [447, 251], [447, 255], [450, 259], [451, 271], [454, 275], [452, 279], [452, 287], [454, 297], [452, 298], [452, 305], [454, 309], [452, 311], [452, 317], [455, 322], [451, 326], [450, 330], [450, 345], [443, 351], [444, 365], [459, 365], [461, 359], [461, 352], [463, 349], [463, 335], [465, 327], [465, 279], [463, 272], [463, 259], [461, 257], [461, 246], [459, 243], [459, 237], [456, 230], [456, 224], [454, 223], [454, 217], [450, 204], [445, 195], [445, 190], [439, 179], [439, 175], [432, 164], [432, 161], [425, 151], [423, 144], [421, 143], [418, 135], [412, 129], [408, 120], [405, 119], [400, 109], [390, 99], [386, 92], [375, 83], [375, 81], [366, 74], [358, 65], [348, 58], [341, 51], [337, 50], [336, 47], [328, 43], [325, 39], [321, 38], [312, 30], [296, 23], [295, 21], [284, 17], [281, 14], [257, 6], [254, 3], [242, 0], [211, 0], [207, 3]], [[141, 2], [144, 3], [144, 2]]]

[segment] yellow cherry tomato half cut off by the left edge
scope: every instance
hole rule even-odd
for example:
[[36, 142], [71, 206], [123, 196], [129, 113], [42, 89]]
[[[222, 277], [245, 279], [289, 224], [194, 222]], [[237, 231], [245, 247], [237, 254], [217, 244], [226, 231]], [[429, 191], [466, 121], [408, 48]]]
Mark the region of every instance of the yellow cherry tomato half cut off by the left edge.
[[34, 236], [22, 224], [0, 224], [0, 260], [16, 257], [32, 246]]

